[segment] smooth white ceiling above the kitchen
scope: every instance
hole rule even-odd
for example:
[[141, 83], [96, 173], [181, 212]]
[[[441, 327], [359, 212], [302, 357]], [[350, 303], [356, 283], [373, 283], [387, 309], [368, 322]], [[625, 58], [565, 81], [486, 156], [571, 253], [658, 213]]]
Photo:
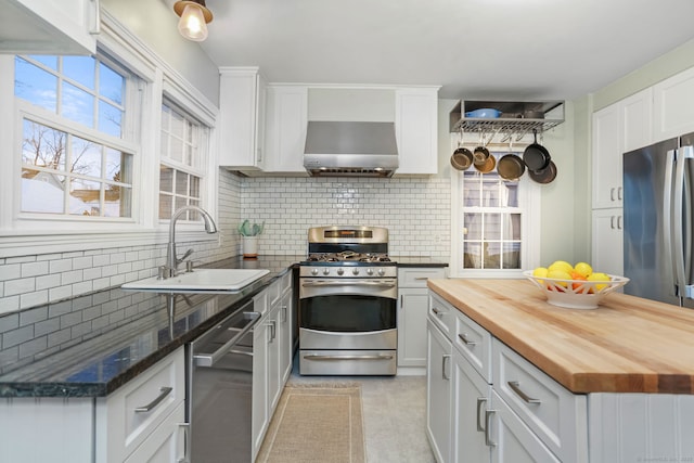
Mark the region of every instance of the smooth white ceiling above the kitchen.
[[203, 49], [268, 81], [570, 100], [694, 38], [693, 0], [207, 0]]

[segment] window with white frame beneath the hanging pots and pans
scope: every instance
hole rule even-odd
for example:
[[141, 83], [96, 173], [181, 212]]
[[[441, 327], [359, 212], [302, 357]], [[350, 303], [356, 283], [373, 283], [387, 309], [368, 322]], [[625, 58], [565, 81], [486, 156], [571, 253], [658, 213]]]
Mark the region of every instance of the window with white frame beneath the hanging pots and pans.
[[[500, 157], [492, 154], [494, 157]], [[535, 189], [496, 170], [453, 171], [452, 270], [459, 275], [514, 275], [530, 266]]]

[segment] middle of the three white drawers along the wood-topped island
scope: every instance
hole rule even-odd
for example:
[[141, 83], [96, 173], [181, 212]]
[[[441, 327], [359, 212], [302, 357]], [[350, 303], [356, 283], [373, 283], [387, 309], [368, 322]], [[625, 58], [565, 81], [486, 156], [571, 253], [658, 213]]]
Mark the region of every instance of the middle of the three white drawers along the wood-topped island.
[[470, 317], [455, 311], [453, 346], [489, 384], [491, 381], [491, 334]]

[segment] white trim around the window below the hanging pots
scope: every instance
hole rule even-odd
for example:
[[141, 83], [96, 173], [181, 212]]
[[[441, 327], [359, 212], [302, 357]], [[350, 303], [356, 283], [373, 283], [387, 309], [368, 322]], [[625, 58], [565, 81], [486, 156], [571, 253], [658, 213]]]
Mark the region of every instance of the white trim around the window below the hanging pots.
[[520, 269], [463, 269], [463, 242], [460, 239], [463, 221], [462, 191], [464, 172], [451, 169], [451, 278], [523, 278], [523, 270], [532, 269], [540, 262], [541, 191], [527, 178], [518, 181], [520, 216]]

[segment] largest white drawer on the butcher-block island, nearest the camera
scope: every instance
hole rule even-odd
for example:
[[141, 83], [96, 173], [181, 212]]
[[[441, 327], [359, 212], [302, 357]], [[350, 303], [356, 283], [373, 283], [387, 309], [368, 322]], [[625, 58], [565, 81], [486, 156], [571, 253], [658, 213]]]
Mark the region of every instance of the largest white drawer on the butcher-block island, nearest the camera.
[[494, 390], [563, 462], [587, 461], [584, 395], [571, 394], [498, 339], [492, 342]]

